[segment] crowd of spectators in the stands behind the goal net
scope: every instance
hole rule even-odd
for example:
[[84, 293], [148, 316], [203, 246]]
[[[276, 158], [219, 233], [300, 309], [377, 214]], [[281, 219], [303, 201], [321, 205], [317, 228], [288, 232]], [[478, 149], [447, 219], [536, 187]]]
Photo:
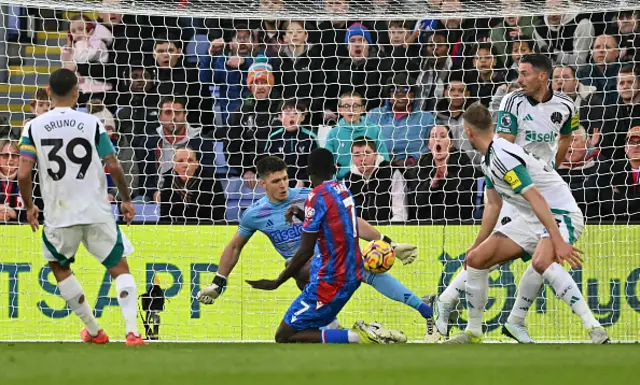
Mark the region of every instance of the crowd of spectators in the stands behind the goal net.
[[[267, 154], [286, 160], [291, 187], [308, 186], [307, 155], [324, 146], [363, 218], [457, 223], [481, 217], [484, 189], [462, 113], [482, 103], [497, 116], [522, 56], [542, 53], [549, 87], [579, 111], [558, 172], [592, 222], [640, 220], [640, 13], [341, 18], [353, 2], [318, 2], [335, 17], [316, 22], [77, 14], [61, 59], [135, 199], [157, 203], [161, 219], [229, 219], [234, 193], [260, 196], [255, 164]], [[38, 91], [33, 115], [49, 107]], [[21, 220], [15, 143], [0, 151], [0, 221]]]

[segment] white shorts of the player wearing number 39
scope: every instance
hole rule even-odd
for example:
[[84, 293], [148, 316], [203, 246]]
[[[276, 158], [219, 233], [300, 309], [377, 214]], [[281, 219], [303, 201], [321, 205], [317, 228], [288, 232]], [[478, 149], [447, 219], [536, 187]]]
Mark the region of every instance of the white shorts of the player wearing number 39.
[[42, 230], [44, 259], [58, 262], [62, 266], [75, 261], [80, 242], [107, 269], [116, 266], [123, 257], [133, 253], [131, 242], [115, 222], [61, 228], [45, 226]]

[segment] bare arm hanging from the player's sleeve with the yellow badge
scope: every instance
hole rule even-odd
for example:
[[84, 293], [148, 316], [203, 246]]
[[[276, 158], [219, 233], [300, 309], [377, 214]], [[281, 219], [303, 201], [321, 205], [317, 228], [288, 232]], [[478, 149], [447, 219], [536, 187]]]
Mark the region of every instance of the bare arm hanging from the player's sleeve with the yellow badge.
[[564, 241], [556, 219], [551, 213], [551, 208], [549, 208], [549, 204], [540, 193], [540, 190], [536, 186], [532, 186], [524, 191], [522, 197], [531, 204], [533, 212], [549, 233], [551, 242], [553, 242], [553, 246], [556, 249], [556, 256], [563, 261], [569, 262], [573, 268], [580, 267], [583, 262], [580, 256], [582, 251]]

